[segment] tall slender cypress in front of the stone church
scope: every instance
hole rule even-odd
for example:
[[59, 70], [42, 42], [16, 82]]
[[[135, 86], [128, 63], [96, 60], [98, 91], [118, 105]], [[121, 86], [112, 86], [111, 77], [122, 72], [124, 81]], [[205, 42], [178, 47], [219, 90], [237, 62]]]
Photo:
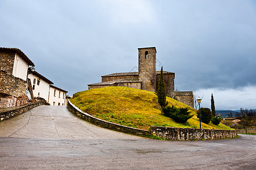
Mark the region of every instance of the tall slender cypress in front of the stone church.
[[163, 114], [163, 109], [168, 104], [166, 102], [166, 89], [165, 89], [165, 82], [163, 80], [163, 67], [161, 67], [160, 80], [157, 88], [157, 97], [158, 97], [158, 103], [160, 104], [160, 107], [161, 107], [161, 114]]

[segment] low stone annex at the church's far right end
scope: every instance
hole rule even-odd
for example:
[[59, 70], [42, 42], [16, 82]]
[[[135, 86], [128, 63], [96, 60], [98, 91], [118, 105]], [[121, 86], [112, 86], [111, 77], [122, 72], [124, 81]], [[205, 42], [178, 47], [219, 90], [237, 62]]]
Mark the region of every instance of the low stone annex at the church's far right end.
[[194, 108], [194, 96], [192, 91], [175, 91], [175, 98], [192, 108]]

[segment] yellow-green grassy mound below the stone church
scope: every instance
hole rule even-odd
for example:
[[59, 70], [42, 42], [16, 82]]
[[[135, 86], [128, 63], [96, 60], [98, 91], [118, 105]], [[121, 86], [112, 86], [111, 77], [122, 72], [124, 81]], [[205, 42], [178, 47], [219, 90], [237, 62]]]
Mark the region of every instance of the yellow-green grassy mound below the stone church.
[[[83, 112], [116, 124], [148, 130], [150, 126], [170, 126], [179, 128], [199, 128], [195, 109], [167, 97], [169, 105], [186, 107], [194, 116], [186, 124], [179, 124], [161, 115], [157, 96], [154, 92], [128, 87], [106, 87], [81, 91], [70, 101]], [[231, 129], [219, 124], [202, 123], [204, 129]]]

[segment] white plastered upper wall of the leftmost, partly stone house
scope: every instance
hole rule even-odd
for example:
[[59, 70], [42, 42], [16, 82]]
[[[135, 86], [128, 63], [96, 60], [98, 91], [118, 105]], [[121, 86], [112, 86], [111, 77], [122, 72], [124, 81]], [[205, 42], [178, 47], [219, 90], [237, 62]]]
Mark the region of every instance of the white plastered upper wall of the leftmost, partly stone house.
[[28, 71], [28, 63], [24, 61], [17, 53], [14, 57], [14, 67], [12, 70], [12, 75], [21, 78], [23, 80], [27, 80], [27, 71]]

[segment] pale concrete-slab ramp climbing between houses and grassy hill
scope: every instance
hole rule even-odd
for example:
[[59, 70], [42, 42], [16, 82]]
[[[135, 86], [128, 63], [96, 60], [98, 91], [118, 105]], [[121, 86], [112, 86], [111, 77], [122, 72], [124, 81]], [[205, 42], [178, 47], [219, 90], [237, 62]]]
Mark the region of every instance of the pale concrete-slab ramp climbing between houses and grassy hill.
[[0, 137], [51, 139], [137, 139], [81, 120], [62, 106], [41, 105], [0, 122]]

